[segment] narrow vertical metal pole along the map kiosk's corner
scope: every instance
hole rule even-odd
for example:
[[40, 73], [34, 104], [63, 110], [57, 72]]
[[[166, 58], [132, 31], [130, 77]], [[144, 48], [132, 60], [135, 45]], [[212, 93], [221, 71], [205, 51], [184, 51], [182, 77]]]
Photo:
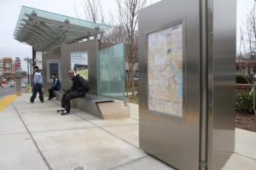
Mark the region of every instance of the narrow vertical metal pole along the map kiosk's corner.
[[200, 1], [201, 65], [200, 65], [200, 169], [207, 170], [208, 116], [208, 21], [207, 0]]

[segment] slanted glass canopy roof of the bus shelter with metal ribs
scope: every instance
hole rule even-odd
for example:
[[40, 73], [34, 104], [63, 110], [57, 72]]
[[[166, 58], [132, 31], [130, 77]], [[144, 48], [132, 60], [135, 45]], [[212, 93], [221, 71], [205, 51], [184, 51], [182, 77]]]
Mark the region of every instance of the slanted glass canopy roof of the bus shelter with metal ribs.
[[37, 51], [53, 51], [63, 44], [95, 37], [108, 28], [102, 24], [23, 6], [14, 37]]

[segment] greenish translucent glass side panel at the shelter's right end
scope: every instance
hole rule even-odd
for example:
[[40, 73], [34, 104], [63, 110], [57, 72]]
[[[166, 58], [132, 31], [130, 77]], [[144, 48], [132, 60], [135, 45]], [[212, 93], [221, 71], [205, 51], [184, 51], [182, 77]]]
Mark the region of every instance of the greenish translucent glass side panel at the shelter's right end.
[[125, 44], [98, 53], [98, 94], [125, 99]]

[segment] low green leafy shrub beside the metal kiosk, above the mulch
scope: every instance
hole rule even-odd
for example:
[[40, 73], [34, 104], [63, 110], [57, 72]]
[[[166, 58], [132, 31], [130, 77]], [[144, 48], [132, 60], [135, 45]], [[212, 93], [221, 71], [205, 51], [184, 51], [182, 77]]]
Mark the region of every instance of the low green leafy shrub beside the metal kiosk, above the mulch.
[[253, 94], [249, 95], [248, 93], [237, 93], [236, 111], [253, 113]]

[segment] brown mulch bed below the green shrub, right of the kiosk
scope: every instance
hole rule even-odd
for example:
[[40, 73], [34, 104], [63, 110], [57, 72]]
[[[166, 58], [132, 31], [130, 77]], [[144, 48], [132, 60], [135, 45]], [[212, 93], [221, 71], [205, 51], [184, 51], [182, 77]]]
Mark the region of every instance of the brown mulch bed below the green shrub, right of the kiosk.
[[253, 113], [236, 112], [236, 127], [256, 132], [256, 116]]

